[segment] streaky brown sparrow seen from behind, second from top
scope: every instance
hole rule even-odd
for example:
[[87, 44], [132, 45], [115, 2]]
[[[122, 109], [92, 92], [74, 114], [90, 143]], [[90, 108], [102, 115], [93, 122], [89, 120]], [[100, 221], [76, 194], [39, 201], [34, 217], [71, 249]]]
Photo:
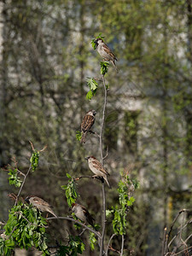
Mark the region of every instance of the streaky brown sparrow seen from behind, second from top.
[[84, 115], [84, 119], [81, 123], [82, 137], [81, 137], [80, 143], [85, 143], [87, 132], [90, 131], [90, 128], [95, 123], [95, 119], [96, 119], [95, 115], [96, 115], [95, 110], [90, 110]]

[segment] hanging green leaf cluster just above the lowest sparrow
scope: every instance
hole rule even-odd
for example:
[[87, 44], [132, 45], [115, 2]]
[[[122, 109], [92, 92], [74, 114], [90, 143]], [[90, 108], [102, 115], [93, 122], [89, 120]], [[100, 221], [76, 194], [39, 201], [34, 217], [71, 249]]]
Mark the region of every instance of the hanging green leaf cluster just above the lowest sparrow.
[[67, 185], [61, 186], [61, 189], [66, 190], [67, 204], [69, 207], [72, 207], [72, 204], [76, 201], [78, 197], [78, 193], [76, 189], [76, 183], [74, 182], [73, 177], [71, 177], [68, 173], [67, 177], [69, 178], [69, 183], [67, 183]]

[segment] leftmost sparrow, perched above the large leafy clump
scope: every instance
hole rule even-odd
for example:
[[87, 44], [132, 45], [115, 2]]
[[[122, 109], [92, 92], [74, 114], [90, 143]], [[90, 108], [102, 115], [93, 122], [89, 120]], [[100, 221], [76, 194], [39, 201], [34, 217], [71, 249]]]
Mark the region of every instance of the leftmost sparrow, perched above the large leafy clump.
[[57, 218], [56, 214], [51, 210], [52, 207], [49, 205], [49, 203], [38, 196], [27, 196], [25, 201], [27, 203], [31, 203], [33, 207], [37, 207], [39, 211], [50, 212]]

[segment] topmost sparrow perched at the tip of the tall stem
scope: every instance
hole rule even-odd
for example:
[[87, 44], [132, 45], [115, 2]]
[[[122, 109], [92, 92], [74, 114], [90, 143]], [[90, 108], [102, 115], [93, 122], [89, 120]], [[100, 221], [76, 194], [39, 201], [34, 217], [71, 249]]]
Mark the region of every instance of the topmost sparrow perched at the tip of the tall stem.
[[115, 61], [118, 60], [113, 54], [112, 50], [108, 48], [108, 45], [103, 42], [102, 38], [97, 38], [94, 43], [96, 44], [96, 50], [102, 56], [103, 61], [110, 61], [118, 73], [119, 71], [115, 63]]

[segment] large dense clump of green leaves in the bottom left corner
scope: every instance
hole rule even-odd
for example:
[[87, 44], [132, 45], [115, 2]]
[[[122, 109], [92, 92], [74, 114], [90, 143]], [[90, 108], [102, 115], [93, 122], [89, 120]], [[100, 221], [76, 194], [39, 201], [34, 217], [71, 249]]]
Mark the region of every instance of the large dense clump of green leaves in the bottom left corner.
[[5, 239], [0, 239], [0, 253], [4, 256], [11, 255], [15, 247], [36, 247], [44, 255], [49, 255], [47, 236], [45, 234], [46, 219], [32, 206], [18, 205], [9, 211], [9, 219], [4, 225]]

